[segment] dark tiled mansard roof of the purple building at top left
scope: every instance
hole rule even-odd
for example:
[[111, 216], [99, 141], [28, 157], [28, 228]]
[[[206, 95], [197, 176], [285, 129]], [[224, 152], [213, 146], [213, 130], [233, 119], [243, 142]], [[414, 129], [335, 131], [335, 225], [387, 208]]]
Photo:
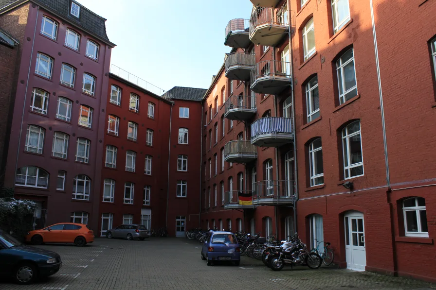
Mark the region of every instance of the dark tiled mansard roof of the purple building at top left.
[[110, 45], [115, 46], [115, 44], [109, 41], [109, 37], [106, 34], [106, 19], [98, 16], [76, 1], [73, 2], [80, 6], [79, 18], [70, 14], [70, 3], [72, 0], [0, 0], [0, 13], [3, 12], [3, 9], [7, 10], [9, 8], [14, 8], [27, 1], [32, 1], [41, 5], [43, 8], [55, 15], [70, 21], [72, 24], [77, 25], [85, 31], [88, 31], [100, 40], [109, 42]]

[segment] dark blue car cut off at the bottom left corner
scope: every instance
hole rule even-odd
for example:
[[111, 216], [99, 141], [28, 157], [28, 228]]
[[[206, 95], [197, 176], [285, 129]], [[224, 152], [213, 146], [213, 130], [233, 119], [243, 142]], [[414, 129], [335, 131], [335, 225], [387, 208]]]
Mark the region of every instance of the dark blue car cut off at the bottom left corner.
[[47, 277], [59, 271], [59, 254], [20, 243], [0, 230], [0, 274], [12, 276], [18, 284], [30, 284], [37, 277]]

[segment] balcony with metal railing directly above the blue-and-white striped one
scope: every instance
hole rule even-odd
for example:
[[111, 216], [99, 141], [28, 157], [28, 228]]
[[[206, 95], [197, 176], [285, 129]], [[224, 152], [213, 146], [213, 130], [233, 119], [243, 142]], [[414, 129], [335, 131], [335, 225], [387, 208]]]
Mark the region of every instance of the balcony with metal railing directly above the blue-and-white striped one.
[[251, 71], [251, 90], [258, 94], [277, 95], [291, 82], [291, 63], [266, 60]]

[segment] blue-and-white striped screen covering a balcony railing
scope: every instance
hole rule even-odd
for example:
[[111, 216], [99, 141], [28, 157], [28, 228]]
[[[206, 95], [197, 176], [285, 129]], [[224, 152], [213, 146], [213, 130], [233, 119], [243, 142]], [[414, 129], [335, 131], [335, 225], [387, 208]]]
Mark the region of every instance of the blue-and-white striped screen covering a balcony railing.
[[264, 134], [292, 133], [292, 119], [284, 117], [266, 117], [251, 124], [251, 138]]

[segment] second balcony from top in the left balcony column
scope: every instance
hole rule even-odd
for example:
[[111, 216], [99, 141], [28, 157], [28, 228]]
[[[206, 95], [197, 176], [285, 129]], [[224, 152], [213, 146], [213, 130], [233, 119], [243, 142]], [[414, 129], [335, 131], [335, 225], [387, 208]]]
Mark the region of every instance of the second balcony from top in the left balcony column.
[[251, 53], [230, 53], [225, 61], [225, 76], [230, 80], [248, 81], [251, 70], [256, 64], [255, 55]]

